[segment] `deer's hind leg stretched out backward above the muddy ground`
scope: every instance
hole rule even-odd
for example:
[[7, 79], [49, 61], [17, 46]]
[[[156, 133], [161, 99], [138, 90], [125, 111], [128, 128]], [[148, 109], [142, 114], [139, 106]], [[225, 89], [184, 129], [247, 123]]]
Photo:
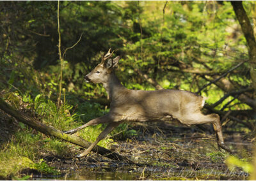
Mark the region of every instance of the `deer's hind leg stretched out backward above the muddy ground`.
[[217, 136], [218, 144], [223, 145], [220, 116], [217, 114], [203, 115], [202, 113], [189, 113], [182, 123], [187, 125], [211, 123]]

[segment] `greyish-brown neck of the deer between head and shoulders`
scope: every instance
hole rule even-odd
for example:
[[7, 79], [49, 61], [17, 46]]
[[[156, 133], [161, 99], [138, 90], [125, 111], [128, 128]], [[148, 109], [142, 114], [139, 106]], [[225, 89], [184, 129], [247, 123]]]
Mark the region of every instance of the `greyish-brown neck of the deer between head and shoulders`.
[[108, 99], [110, 99], [110, 101], [116, 99], [118, 94], [120, 95], [120, 92], [126, 89], [120, 83], [114, 72], [109, 75], [108, 82], [103, 83], [103, 87], [106, 89], [106, 92], [108, 93]]

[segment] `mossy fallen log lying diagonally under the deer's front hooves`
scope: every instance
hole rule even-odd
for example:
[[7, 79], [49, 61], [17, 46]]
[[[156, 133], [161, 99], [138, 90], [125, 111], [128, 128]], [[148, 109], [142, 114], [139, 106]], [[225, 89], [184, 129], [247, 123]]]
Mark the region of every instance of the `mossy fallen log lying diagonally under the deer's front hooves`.
[[[39, 122], [38, 120], [35, 120], [32, 117], [29, 117], [28, 115], [25, 115], [24, 113], [19, 112], [18, 110], [15, 110], [15, 108], [8, 105], [8, 103], [6, 103], [1, 98], [0, 98], [0, 109], [3, 110], [5, 113], [8, 113], [12, 117], [15, 117], [15, 119], [17, 119], [19, 122], [22, 122], [28, 125], [29, 127], [36, 129], [36, 131], [40, 131], [41, 133], [47, 134], [49, 136], [55, 136], [57, 138], [61, 138], [65, 141], [68, 141], [75, 145], [79, 145], [80, 147], [84, 147], [84, 148], [88, 148], [91, 145], [90, 142], [83, 140], [82, 138], [74, 134], [65, 134], [62, 131], [55, 129], [52, 126], [46, 126], [45, 124], [42, 124], [42, 122]], [[126, 157], [121, 156], [120, 154], [117, 154], [115, 152], [111, 152], [111, 150], [100, 147], [98, 145], [96, 145], [92, 151], [97, 152], [98, 154], [102, 156], [106, 156], [110, 159], [116, 159], [118, 161], [127, 161], [128, 163], [133, 164], [132, 161], [129, 161], [129, 159], [127, 159]]]

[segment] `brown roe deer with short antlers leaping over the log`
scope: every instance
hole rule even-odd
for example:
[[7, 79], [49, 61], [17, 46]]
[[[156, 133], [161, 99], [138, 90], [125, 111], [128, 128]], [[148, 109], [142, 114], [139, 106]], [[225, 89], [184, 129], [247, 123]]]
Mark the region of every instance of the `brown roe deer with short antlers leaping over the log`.
[[203, 115], [204, 98], [193, 92], [163, 89], [157, 91], [141, 91], [126, 89], [116, 78], [114, 68], [120, 57], [111, 59], [110, 49], [102, 54], [102, 61], [91, 73], [84, 76], [86, 82], [102, 83], [110, 98], [110, 111], [102, 117], [92, 119], [83, 126], [64, 131], [73, 134], [87, 126], [107, 123], [108, 126], [99, 134], [95, 142], [77, 157], [86, 156], [92, 148], [105, 138], [116, 126], [124, 121], [145, 122], [179, 120], [182, 124], [212, 123], [216, 131], [218, 145], [223, 147], [220, 117], [217, 114]]

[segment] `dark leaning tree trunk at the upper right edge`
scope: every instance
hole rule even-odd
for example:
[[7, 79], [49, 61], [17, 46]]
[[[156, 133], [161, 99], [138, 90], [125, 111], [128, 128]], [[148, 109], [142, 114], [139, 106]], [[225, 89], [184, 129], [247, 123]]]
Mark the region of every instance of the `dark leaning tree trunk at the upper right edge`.
[[[243, 8], [242, 1], [230, 1], [233, 9], [236, 13], [236, 18], [241, 25], [244, 37], [248, 45], [249, 53], [249, 64], [250, 64], [250, 75], [252, 78], [252, 87], [256, 91], [256, 41], [253, 34], [253, 27], [250, 23], [250, 20], [246, 14], [246, 11]], [[255, 96], [255, 95], [254, 95]], [[256, 106], [253, 107], [256, 110]]]

